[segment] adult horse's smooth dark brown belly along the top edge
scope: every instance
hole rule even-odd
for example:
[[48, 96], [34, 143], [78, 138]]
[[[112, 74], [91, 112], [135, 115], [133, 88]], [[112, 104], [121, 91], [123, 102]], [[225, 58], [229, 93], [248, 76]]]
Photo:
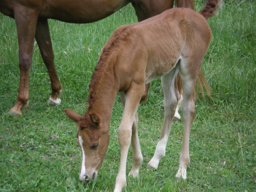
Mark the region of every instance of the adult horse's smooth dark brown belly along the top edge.
[[108, 17], [131, 0], [47, 0], [39, 18], [70, 23], [90, 23]]

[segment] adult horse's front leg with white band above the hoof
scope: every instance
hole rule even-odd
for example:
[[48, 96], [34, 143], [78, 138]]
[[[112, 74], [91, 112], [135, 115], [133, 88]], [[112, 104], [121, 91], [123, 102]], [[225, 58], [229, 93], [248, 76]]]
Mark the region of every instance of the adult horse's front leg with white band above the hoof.
[[54, 62], [53, 62], [54, 54], [52, 51], [52, 41], [51, 41], [47, 20], [38, 20], [36, 25], [35, 38], [36, 38], [36, 42], [38, 44], [40, 53], [42, 55], [44, 64], [50, 76], [52, 95], [48, 100], [48, 102], [59, 104], [61, 100], [58, 98], [58, 96], [60, 96], [62, 93], [62, 86], [60, 84], [60, 80], [57, 75]]

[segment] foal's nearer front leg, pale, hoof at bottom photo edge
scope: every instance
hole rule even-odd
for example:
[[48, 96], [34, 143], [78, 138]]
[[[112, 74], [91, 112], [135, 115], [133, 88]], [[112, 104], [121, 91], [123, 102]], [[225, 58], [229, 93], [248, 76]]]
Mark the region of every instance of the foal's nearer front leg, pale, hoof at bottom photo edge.
[[140, 103], [141, 95], [145, 90], [144, 84], [138, 85], [131, 82], [130, 87], [132, 88], [126, 92], [124, 114], [118, 128], [118, 141], [121, 149], [121, 157], [114, 192], [122, 191], [126, 185], [126, 161], [131, 144], [132, 124]]

